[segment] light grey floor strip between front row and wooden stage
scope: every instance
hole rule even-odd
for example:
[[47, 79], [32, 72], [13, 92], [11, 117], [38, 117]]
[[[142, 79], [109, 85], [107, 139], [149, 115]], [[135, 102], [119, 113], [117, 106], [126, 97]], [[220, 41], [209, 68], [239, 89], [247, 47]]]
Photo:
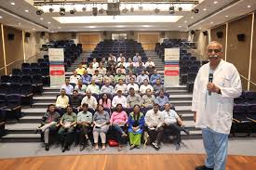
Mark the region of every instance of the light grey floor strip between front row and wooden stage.
[[[229, 155], [248, 155], [256, 156], [256, 137], [230, 137], [229, 138]], [[49, 156], [49, 155], [76, 155], [76, 154], [166, 154], [166, 153], [205, 153], [201, 139], [183, 140], [180, 150], [175, 150], [173, 144], [163, 144], [160, 150], [155, 150], [151, 146], [146, 149], [129, 150], [125, 147], [122, 151], [117, 148], [107, 147], [106, 150], [94, 150], [86, 148], [79, 151], [79, 146], [72, 146], [71, 150], [61, 152], [59, 145], [50, 146], [46, 151], [42, 143], [0, 143], [0, 158], [16, 158], [31, 156]]]

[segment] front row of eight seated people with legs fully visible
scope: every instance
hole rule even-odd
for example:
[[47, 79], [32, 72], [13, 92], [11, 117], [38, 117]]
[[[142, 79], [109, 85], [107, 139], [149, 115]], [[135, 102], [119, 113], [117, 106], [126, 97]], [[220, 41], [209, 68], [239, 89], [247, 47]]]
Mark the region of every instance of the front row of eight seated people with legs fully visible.
[[132, 111], [127, 112], [122, 104], [118, 103], [113, 112], [105, 111], [102, 104], [98, 104], [95, 111], [89, 111], [88, 103], [83, 103], [81, 111], [77, 114], [74, 113], [73, 107], [68, 105], [61, 116], [56, 106], [50, 104], [36, 133], [40, 132], [44, 135], [46, 150], [49, 150], [50, 134], [56, 132], [61, 141], [62, 152], [70, 150], [75, 130], [80, 131], [80, 151], [87, 146], [92, 146], [89, 133], [92, 133], [95, 150], [99, 150], [99, 136], [101, 137], [101, 150], [105, 150], [109, 130], [115, 134], [118, 151], [123, 149], [127, 141], [129, 141], [130, 150], [140, 149], [141, 137], [144, 133], [147, 134], [144, 144], [152, 144], [156, 150], [159, 150], [164, 132], [168, 129], [176, 136], [176, 150], [179, 150], [181, 131], [187, 135], [189, 131], [185, 129], [177, 112], [171, 109], [171, 104], [167, 102], [164, 108], [164, 111], [160, 111], [159, 105], [154, 103], [153, 109], [144, 114], [138, 104], [133, 106]]

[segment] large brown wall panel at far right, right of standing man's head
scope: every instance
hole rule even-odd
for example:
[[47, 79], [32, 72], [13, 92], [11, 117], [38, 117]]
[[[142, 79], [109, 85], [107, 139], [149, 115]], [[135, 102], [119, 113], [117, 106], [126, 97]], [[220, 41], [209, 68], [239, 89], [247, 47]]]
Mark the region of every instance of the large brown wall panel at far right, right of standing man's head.
[[[252, 15], [235, 20], [228, 25], [227, 61], [233, 63], [240, 74], [249, 76], [249, 53]], [[236, 35], [244, 33], [245, 41], [238, 41]], [[247, 81], [242, 81], [243, 89], [247, 89]]]

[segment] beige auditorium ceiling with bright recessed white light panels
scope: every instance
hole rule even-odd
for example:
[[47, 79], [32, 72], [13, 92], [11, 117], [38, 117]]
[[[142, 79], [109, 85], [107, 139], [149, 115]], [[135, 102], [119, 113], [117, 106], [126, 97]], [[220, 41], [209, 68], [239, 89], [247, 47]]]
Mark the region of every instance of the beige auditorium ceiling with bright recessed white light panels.
[[[248, 14], [256, 9], [255, 0], [203, 0], [199, 1], [198, 5], [193, 5], [190, 8], [196, 7], [199, 9], [198, 14], [192, 12], [189, 8], [182, 7], [179, 11], [179, 5], [175, 7], [175, 13], [169, 14], [167, 4], [168, 1], [161, 1], [166, 3], [164, 6], [159, 1], [147, 1], [149, 4], [154, 4], [153, 7], [141, 7], [145, 1], [132, 1], [134, 11], [130, 11], [131, 5], [122, 5], [128, 8], [126, 13], [121, 11], [120, 16], [115, 16], [115, 19], [122, 19], [113, 21], [113, 16], [106, 16], [105, 11], [102, 14], [97, 14], [96, 17], [92, 15], [91, 5], [87, 6], [85, 11], [82, 7], [75, 8], [76, 12], [70, 14], [69, 8], [66, 8], [64, 17], [60, 15], [59, 7], [54, 8], [53, 12], [48, 12], [49, 7], [42, 9], [42, 15], [36, 15], [35, 12], [38, 7], [34, 7], [33, 0], [0, 0], [0, 22], [5, 25], [10, 25], [27, 32], [87, 32], [87, 31], [188, 31], [188, 30], [207, 30], [215, 25], [222, 24], [228, 20], [234, 20], [241, 15]], [[37, 0], [38, 1], [38, 0]], [[54, 2], [59, 0], [54, 0]], [[68, 0], [67, 0], [68, 1]], [[11, 5], [11, 2], [15, 5]], [[80, 0], [81, 2], [81, 0]], [[87, 1], [85, 1], [87, 3]], [[93, 2], [93, 1], [89, 1]], [[97, 1], [99, 2], [99, 1]], [[105, 1], [102, 1], [105, 2]], [[121, 1], [122, 2], [122, 1]], [[130, 1], [126, 1], [130, 2]], [[103, 6], [102, 6], [103, 7]], [[140, 8], [141, 7], [141, 8]], [[41, 7], [39, 7], [41, 9]], [[70, 6], [74, 8], [74, 6]], [[155, 8], [159, 9], [159, 13], [155, 13]], [[98, 10], [101, 9], [99, 5]], [[206, 9], [206, 10], [204, 10]], [[128, 16], [128, 17], [126, 17]], [[144, 20], [140, 21], [138, 16], [146, 16]], [[155, 16], [155, 17], [153, 17]], [[71, 17], [83, 19], [73, 20]], [[102, 20], [102, 18], [109, 20]], [[109, 19], [110, 18], [110, 19]], [[155, 18], [155, 21], [154, 21]], [[158, 18], [158, 19], [157, 19]], [[168, 21], [164, 18], [169, 18]], [[172, 20], [175, 18], [175, 22]], [[88, 21], [93, 19], [93, 21]], [[130, 20], [134, 20], [131, 22]], [[63, 21], [64, 20], [64, 21]], [[136, 20], [138, 20], [136, 22]], [[164, 21], [163, 21], [164, 20]], [[65, 23], [64, 23], [65, 22]], [[34, 30], [33, 30], [34, 29]]]

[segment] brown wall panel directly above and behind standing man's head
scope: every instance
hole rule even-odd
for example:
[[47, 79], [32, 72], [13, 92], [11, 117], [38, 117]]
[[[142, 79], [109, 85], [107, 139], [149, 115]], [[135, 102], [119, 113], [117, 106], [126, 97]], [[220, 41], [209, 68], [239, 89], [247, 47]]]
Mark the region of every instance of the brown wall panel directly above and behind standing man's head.
[[[218, 38], [217, 33], [222, 32], [222, 38]], [[226, 45], [226, 25], [221, 25], [219, 27], [210, 30], [211, 41], [217, 41], [222, 44], [223, 47], [223, 59], [225, 59], [225, 45]]]

